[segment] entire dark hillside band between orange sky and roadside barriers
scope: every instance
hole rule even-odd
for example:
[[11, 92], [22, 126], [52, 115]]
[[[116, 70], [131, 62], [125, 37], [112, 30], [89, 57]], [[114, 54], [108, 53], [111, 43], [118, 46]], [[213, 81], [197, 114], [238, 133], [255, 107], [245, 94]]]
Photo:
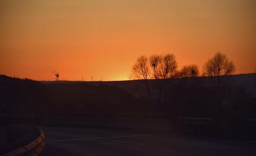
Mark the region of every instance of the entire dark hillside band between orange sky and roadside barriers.
[[150, 80], [153, 100], [143, 81], [38, 81], [0, 75], [1, 112], [163, 112], [177, 116], [256, 116], [256, 74], [230, 75], [216, 87], [209, 77], [176, 78], [157, 108], [158, 90]]

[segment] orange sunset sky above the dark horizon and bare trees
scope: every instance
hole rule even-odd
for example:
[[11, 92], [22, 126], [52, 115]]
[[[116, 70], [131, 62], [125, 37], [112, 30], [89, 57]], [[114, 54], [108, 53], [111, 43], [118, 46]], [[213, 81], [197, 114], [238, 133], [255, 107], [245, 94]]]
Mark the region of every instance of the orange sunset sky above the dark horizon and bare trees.
[[0, 74], [127, 80], [140, 55], [179, 68], [226, 53], [234, 74], [256, 68], [256, 0], [0, 0]]

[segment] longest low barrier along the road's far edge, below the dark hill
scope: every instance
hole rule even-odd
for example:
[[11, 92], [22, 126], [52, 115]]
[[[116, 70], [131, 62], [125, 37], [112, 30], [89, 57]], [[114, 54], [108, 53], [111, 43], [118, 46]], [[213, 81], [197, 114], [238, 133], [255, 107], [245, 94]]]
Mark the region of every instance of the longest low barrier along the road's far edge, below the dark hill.
[[123, 113], [53, 113], [45, 114], [48, 126], [92, 126], [140, 130], [144, 132], [170, 131], [172, 114], [123, 114]]

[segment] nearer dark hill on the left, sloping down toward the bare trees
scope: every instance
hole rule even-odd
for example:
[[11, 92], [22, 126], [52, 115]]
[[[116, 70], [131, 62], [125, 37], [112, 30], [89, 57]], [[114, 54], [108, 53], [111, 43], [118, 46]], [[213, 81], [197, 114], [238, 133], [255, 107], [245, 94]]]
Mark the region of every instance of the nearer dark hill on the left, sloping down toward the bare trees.
[[[1, 112], [148, 112], [146, 100], [104, 84], [52, 83], [0, 75]], [[79, 106], [80, 105], [80, 106]], [[151, 109], [151, 110], [150, 110]]]

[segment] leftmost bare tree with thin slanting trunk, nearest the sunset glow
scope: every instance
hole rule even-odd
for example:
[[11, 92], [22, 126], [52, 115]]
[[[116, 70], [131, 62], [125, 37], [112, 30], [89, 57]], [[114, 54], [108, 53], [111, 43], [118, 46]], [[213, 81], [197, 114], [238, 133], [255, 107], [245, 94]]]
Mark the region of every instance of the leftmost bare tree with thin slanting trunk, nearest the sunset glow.
[[144, 80], [144, 83], [146, 84], [148, 98], [151, 100], [150, 88], [148, 84], [148, 78], [150, 77], [148, 69], [148, 59], [145, 55], [137, 58], [135, 64], [133, 65], [132, 73], [134, 78]]

